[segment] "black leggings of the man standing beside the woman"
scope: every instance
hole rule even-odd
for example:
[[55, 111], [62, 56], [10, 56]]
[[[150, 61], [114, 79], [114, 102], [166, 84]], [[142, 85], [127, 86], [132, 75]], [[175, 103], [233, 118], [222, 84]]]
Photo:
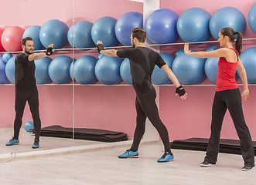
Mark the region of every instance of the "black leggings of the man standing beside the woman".
[[169, 143], [169, 135], [166, 126], [162, 123], [159, 117], [159, 109], [155, 104], [155, 89], [151, 89], [145, 93], [137, 93], [135, 106], [137, 112], [136, 129], [134, 140], [131, 146], [131, 151], [137, 151], [138, 145], [142, 140], [142, 136], [145, 133], [145, 120], [148, 117], [155, 129], [159, 132], [159, 135], [164, 144], [165, 151], [171, 152], [171, 146]]

